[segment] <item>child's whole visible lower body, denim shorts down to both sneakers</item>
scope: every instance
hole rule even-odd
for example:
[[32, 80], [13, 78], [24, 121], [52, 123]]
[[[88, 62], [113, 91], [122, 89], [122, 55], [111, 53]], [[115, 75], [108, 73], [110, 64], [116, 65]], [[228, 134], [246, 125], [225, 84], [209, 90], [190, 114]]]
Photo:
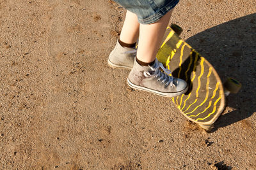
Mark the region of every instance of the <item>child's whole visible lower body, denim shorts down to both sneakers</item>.
[[[132, 68], [127, 82], [134, 89], [166, 97], [184, 94], [188, 90], [186, 81], [169, 76], [170, 71], [156, 59], [157, 50], [172, 14], [172, 10], [167, 12], [166, 9], [174, 8], [179, 0], [160, 0], [154, 3], [139, 0], [116, 1], [136, 14], [127, 11], [120, 39], [109, 55], [108, 64], [112, 67]], [[163, 5], [157, 6], [157, 4]], [[156, 13], [159, 9], [167, 13], [160, 16], [160, 13]], [[152, 15], [148, 16], [149, 13]], [[138, 20], [143, 24], [139, 24]], [[136, 51], [132, 47], [139, 34]], [[136, 60], [134, 60], [135, 55]]]

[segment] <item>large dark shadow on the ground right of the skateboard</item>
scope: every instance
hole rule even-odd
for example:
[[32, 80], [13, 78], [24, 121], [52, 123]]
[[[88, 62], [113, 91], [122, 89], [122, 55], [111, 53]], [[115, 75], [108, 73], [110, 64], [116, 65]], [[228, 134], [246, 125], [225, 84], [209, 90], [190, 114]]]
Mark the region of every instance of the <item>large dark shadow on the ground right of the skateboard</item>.
[[222, 81], [230, 76], [242, 83], [238, 94], [227, 97], [227, 106], [232, 110], [225, 111], [213, 131], [251, 117], [256, 111], [255, 32], [256, 13], [217, 25], [186, 40], [211, 62]]

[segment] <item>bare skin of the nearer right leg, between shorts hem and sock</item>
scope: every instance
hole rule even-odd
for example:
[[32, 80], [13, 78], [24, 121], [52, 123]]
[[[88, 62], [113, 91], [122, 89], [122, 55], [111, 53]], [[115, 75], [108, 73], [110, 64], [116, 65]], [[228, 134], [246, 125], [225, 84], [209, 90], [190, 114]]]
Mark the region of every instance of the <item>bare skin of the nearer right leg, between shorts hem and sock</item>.
[[152, 62], [163, 39], [164, 32], [172, 15], [172, 10], [153, 24], [140, 24], [140, 38], [137, 59], [142, 62]]

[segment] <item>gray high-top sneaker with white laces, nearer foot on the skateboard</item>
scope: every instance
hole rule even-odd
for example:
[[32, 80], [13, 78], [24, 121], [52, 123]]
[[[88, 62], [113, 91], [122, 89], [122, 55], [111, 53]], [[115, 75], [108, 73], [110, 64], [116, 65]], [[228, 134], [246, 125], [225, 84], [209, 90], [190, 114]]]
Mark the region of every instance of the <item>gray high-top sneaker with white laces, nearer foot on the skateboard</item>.
[[[159, 69], [163, 69], [165, 73]], [[175, 97], [188, 90], [186, 81], [169, 76], [170, 70], [156, 59], [154, 66], [140, 66], [135, 60], [127, 78], [128, 85], [133, 89], [144, 90], [165, 97]]]

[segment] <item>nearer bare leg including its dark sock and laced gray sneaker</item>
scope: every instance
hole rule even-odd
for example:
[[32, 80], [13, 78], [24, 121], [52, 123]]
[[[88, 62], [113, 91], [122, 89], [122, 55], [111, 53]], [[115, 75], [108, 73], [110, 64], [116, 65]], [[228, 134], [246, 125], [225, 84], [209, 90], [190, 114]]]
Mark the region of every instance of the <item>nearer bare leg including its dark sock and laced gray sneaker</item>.
[[170, 71], [156, 59], [171, 14], [172, 11], [169, 11], [153, 24], [140, 24], [136, 61], [127, 78], [128, 85], [133, 89], [166, 97], [179, 96], [188, 90], [186, 81], [169, 76]]

